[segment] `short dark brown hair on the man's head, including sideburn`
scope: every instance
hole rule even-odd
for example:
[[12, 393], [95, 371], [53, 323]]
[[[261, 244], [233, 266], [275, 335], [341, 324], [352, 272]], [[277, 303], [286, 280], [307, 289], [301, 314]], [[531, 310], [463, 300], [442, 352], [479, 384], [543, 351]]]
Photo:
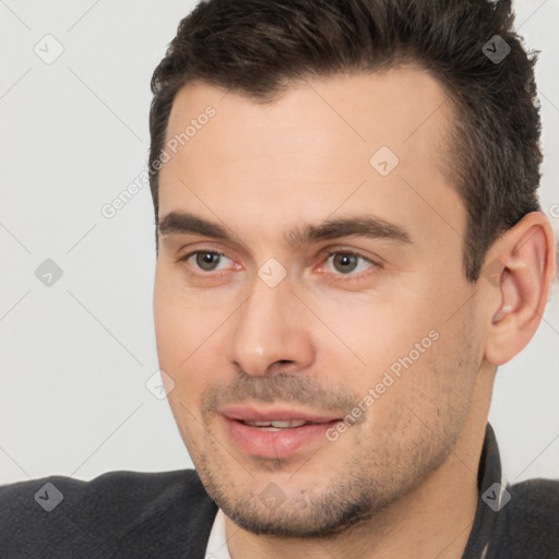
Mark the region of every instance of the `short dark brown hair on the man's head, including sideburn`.
[[[231, 90], [264, 104], [308, 78], [411, 62], [438, 79], [453, 102], [452, 157], [443, 165], [466, 210], [464, 273], [477, 281], [495, 240], [525, 214], [542, 210], [538, 52], [524, 50], [513, 20], [510, 1], [200, 2], [180, 22], [152, 78], [150, 181], [156, 223], [154, 163], [164, 148], [173, 100], [187, 83]], [[484, 48], [496, 50], [495, 40], [503, 52], [510, 49], [499, 61]]]

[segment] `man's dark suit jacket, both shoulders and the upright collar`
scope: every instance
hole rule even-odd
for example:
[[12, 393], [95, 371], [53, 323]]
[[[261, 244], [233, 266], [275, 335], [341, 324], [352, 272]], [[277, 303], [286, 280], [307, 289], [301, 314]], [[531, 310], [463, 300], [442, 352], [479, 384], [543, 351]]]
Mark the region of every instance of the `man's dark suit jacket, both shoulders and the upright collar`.
[[[502, 492], [495, 486], [500, 480], [488, 425], [477, 513], [463, 559], [559, 559], [559, 481], [533, 479]], [[0, 558], [203, 559], [216, 512], [194, 469], [5, 485], [0, 487]]]

